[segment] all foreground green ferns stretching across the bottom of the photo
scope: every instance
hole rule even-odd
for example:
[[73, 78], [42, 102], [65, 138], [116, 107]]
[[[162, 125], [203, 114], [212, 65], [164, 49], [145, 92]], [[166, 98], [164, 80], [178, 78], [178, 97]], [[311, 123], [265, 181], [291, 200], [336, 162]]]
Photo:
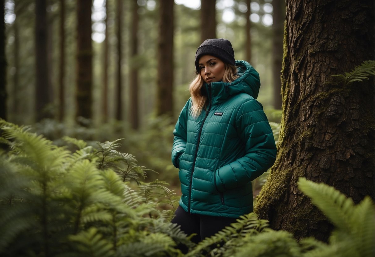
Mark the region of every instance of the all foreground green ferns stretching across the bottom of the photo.
[[[145, 169], [118, 140], [68, 146], [0, 120], [0, 255], [345, 257], [374, 256], [375, 208], [354, 205], [333, 187], [301, 178], [299, 187], [336, 228], [329, 244], [297, 242], [254, 213], [199, 244], [171, 224], [178, 197], [165, 181], [144, 182]], [[124, 175], [124, 170], [132, 170]]]

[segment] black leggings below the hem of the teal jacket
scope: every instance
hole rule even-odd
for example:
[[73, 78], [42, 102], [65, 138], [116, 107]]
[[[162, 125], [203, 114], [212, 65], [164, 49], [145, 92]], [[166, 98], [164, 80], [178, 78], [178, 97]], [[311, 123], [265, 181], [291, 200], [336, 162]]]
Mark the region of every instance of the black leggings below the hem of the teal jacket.
[[189, 214], [184, 211], [181, 206], [178, 206], [172, 223], [180, 225], [181, 230], [187, 235], [196, 233], [197, 235], [192, 238], [192, 241], [198, 243], [205, 238], [213, 236], [231, 223], [236, 222], [236, 219], [237, 218]]

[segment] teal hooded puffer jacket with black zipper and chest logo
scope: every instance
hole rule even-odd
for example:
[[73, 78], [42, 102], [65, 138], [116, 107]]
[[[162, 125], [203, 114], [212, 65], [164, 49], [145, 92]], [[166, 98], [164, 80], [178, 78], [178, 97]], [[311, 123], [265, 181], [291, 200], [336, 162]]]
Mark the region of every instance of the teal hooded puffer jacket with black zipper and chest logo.
[[186, 212], [231, 218], [252, 212], [251, 181], [275, 162], [275, 139], [255, 100], [259, 74], [246, 61], [236, 66], [240, 77], [232, 83], [203, 85], [208, 106], [199, 117], [187, 101], [173, 131], [172, 163], [180, 169]]

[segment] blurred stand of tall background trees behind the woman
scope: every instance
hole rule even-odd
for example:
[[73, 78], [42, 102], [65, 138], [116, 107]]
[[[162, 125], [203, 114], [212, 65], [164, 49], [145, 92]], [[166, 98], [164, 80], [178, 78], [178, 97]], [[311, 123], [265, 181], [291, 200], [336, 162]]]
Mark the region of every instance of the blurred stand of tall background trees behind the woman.
[[[72, 124], [84, 117], [95, 126], [120, 120], [135, 128], [150, 114], [176, 116], [188, 97], [195, 50], [202, 40], [215, 36], [231, 40], [237, 59], [250, 60], [251, 49], [251, 62], [261, 75], [260, 101], [272, 108], [271, 49], [277, 33], [272, 28], [272, 1], [203, 3], [201, 7], [199, 0], [175, 1], [172, 15], [163, 7], [171, 4], [154, 0], [4, 0], [8, 66], [3, 76], [7, 83], [1, 83], [7, 97], [1, 102], [6, 103], [8, 120], [32, 124], [49, 117]], [[162, 11], [172, 15], [166, 25], [159, 24]], [[169, 33], [164, 48], [160, 29]], [[158, 63], [158, 55], [171, 57]], [[161, 99], [170, 102], [164, 111], [157, 108], [158, 69], [164, 70], [162, 80], [173, 96]]]

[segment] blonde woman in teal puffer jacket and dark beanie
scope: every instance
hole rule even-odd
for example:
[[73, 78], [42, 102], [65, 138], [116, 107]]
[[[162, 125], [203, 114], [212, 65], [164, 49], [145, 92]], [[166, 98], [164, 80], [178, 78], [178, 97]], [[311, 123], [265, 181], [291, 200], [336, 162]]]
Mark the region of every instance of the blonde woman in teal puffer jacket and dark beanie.
[[273, 165], [276, 145], [255, 100], [259, 74], [235, 61], [229, 40], [205, 40], [195, 67], [191, 98], [173, 131], [182, 196], [172, 223], [199, 242], [253, 211], [251, 181]]

